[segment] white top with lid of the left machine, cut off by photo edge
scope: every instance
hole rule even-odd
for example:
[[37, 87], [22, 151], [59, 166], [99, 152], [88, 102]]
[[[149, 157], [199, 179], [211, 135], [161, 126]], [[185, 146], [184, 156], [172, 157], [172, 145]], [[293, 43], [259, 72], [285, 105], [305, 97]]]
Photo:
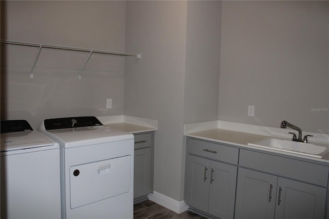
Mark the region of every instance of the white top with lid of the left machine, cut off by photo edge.
[[59, 148], [56, 143], [36, 131], [2, 133], [0, 145], [1, 152], [49, 146]]

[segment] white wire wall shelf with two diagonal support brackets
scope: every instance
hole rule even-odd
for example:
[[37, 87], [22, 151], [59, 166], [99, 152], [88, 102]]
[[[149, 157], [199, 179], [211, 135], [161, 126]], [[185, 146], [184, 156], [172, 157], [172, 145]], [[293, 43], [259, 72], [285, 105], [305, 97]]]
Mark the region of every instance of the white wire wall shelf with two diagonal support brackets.
[[82, 71], [86, 67], [90, 56], [92, 53], [100, 53], [100, 54], [113, 54], [116, 56], [126, 56], [126, 57], [136, 57], [137, 59], [141, 58], [141, 53], [128, 53], [128, 52], [117, 52], [117, 51], [108, 51], [108, 50], [98, 50], [98, 49], [86, 49], [86, 48], [78, 48], [78, 47], [68, 47], [68, 46], [54, 46], [54, 45], [46, 45], [46, 44], [38, 44], [38, 43], [28, 43], [28, 42], [20, 42], [20, 41], [11, 41], [11, 40], [1, 40], [1, 45], [18, 45], [18, 46], [32, 46], [39, 47], [39, 51], [35, 57], [34, 64], [32, 70], [30, 72], [30, 77], [33, 78], [33, 70], [35, 68], [36, 62], [38, 62], [40, 51], [42, 48], [50, 48], [50, 49], [60, 49], [60, 50], [70, 50], [70, 51], [81, 51], [81, 52], [89, 52], [88, 58], [79, 74], [79, 79], [81, 79]]

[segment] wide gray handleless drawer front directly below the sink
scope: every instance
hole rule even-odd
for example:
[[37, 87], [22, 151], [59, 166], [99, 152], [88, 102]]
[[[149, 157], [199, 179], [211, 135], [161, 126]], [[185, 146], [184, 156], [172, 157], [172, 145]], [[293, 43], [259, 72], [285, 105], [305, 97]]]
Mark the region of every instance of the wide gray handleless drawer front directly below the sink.
[[240, 149], [239, 165], [327, 187], [329, 167]]

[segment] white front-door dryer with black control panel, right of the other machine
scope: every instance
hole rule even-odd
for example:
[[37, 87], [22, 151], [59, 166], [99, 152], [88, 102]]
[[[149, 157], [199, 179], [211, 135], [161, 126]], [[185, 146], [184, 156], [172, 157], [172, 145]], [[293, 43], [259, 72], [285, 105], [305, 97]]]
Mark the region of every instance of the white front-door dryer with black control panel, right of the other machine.
[[62, 218], [133, 218], [134, 136], [93, 116], [46, 119], [60, 145]]

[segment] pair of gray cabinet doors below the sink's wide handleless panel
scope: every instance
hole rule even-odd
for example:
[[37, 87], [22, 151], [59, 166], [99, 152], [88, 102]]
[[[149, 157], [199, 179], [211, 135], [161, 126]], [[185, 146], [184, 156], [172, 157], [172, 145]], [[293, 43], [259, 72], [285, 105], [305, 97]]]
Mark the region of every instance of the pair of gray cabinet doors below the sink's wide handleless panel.
[[236, 219], [324, 218], [326, 188], [239, 168]]

